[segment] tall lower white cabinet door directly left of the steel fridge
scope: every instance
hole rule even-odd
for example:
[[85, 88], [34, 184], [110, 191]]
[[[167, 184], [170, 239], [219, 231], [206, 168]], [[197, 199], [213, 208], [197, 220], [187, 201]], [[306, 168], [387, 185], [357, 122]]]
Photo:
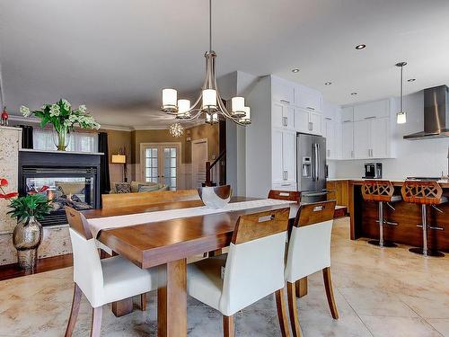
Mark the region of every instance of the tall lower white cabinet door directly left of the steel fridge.
[[296, 133], [271, 131], [271, 174], [273, 188], [296, 189]]

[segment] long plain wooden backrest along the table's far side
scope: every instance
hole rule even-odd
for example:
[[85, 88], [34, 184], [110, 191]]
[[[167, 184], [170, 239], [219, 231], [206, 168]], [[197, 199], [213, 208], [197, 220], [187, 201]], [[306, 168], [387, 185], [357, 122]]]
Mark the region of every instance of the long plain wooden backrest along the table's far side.
[[200, 200], [197, 190], [112, 193], [101, 195], [101, 207], [111, 209], [192, 200]]

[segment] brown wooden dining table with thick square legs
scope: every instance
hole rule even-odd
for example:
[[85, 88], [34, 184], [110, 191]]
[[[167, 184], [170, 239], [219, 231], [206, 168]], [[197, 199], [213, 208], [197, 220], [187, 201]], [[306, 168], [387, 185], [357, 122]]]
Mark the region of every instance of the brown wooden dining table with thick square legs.
[[[255, 199], [233, 197], [231, 202], [248, 200]], [[203, 206], [201, 200], [177, 201], [151, 206], [92, 209], [84, 211], [84, 216], [89, 221], [98, 217], [198, 206]], [[187, 259], [228, 246], [238, 217], [288, 207], [290, 203], [286, 201], [258, 208], [103, 229], [97, 239], [142, 269], [157, 267], [158, 336], [183, 337], [187, 336]]]

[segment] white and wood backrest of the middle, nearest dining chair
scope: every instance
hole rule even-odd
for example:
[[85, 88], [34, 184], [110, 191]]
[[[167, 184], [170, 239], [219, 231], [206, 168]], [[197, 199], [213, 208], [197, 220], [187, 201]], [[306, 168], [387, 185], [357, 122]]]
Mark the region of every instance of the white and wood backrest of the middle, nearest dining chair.
[[226, 259], [220, 311], [233, 315], [284, 288], [289, 208], [239, 217]]

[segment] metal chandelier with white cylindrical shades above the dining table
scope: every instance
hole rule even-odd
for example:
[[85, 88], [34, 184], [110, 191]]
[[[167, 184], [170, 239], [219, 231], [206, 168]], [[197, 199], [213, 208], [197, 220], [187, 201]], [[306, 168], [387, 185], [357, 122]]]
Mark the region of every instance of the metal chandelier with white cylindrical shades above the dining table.
[[219, 116], [239, 125], [251, 124], [251, 109], [245, 106], [243, 97], [233, 97], [232, 109], [228, 111], [216, 87], [216, 52], [212, 50], [212, 0], [209, 0], [209, 51], [206, 52], [206, 78], [198, 99], [190, 105], [189, 100], [178, 100], [175, 89], [163, 89], [162, 111], [178, 120], [198, 120], [204, 116], [207, 124], [218, 122]]

